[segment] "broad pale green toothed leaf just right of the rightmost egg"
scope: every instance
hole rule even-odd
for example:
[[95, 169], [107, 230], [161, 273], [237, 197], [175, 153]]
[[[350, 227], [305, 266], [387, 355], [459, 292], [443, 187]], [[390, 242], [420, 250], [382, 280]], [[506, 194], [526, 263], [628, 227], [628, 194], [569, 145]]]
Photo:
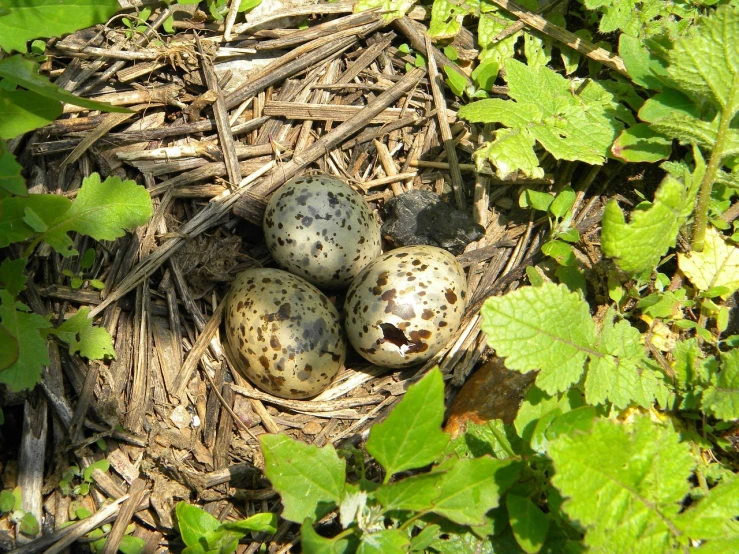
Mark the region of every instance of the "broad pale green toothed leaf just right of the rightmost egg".
[[481, 310], [488, 345], [508, 369], [540, 369], [536, 384], [554, 394], [582, 376], [595, 351], [595, 324], [588, 304], [564, 285], [545, 283], [488, 298]]

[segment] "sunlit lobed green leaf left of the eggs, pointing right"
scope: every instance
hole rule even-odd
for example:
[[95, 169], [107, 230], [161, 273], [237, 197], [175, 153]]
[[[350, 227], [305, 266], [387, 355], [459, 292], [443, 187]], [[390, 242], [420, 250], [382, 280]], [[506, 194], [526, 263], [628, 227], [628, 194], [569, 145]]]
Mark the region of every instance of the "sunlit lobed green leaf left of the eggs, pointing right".
[[51, 221], [44, 240], [63, 256], [77, 251], [67, 233], [77, 231], [96, 240], [114, 240], [126, 229], [146, 223], [153, 212], [148, 191], [129, 180], [93, 173], [82, 181], [77, 198], [66, 213]]

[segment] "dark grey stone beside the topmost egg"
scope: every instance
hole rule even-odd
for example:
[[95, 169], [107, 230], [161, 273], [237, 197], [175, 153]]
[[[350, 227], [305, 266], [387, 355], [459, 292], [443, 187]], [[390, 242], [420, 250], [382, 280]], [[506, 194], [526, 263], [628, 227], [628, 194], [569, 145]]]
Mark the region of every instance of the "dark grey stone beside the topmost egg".
[[412, 190], [385, 203], [382, 234], [398, 246], [429, 244], [461, 254], [485, 229], [472, 215], [455, 210], [433, 192]]

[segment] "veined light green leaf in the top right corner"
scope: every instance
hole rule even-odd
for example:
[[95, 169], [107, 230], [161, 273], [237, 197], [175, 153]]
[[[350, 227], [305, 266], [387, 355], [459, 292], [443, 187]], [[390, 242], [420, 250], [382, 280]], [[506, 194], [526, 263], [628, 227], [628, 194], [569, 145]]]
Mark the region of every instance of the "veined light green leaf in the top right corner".
[[739, 111], [739, 11], [720, 6], [669, 52], [667, 73], [688, 96], [709, 101], [733, 117]]

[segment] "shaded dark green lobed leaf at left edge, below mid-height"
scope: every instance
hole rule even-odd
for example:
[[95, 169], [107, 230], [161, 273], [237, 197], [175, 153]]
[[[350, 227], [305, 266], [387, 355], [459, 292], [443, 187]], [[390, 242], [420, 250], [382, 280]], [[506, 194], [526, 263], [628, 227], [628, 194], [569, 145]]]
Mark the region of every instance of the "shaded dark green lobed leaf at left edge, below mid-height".
[[32, 389], [41, 380], [41, 369], [49, 364], [44, 330], [51, 323], [40, 315], [28, 313], [28, 307], [16, 302], [8, 291], [0, 289], [0, 324], [17, 341], [16, 362], [0, 371], [0, 383], [13, 392]]

